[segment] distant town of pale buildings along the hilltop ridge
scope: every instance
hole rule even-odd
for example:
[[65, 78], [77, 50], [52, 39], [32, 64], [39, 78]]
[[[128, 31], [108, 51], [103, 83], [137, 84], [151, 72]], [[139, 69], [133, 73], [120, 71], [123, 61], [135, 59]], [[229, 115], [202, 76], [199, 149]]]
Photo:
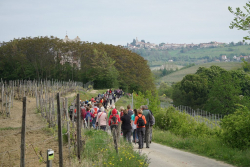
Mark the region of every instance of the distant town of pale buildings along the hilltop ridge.
[[212, 41], [210, 43], [200, 43], [200, 44], [174, 44], [174, 43], [160, 43], [159, 45], [150, 43], [150, 42], [145, 42], [145, 40], [139, 41], [138, 38], [133, 39], [132, 43], [127, 43], [127, 48], [128, 49], [158, 49], [158, 50], [166, 50], [166, 49], [178, 49], [178, 48], [209, 48], [209, 47], [218, 47], [220, 45], [224, 45], [225, 43], [222, 42], [216, 42]]

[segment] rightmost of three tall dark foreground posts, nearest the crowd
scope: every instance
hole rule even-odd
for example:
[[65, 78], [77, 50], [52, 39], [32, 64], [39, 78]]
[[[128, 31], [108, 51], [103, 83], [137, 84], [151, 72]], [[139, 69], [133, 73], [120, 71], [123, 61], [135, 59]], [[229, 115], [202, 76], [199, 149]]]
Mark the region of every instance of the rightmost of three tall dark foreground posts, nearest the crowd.
[[81, 125], [80, 125], [80, 98], [79, 93], [77, 94], [76, 98], [76, 104], [77, 104], [77, 157], [80, 161], [80, 153], [81, 153], [81, 144], [80, 144], [80, 138], [81, 138]]

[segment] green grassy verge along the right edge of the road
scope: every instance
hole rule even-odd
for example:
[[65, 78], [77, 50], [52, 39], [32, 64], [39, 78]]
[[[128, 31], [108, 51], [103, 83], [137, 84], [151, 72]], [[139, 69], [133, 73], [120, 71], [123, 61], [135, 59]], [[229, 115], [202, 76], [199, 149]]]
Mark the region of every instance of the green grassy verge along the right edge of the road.
[[182, 138], [171, 134], [169, 131], [154, 128], [152, 140], [156, 143], [221, 160], [235, 166], [249, 167], [250, 164], [250, 149], [239, 150], [228, 147], [215, 136]]

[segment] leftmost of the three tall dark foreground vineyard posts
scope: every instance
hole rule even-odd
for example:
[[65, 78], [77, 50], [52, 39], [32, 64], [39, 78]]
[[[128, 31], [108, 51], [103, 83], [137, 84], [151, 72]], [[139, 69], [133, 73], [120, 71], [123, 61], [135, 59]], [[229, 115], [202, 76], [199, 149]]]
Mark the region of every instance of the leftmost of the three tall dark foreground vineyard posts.
[[25, 131], [26, 131], [25, 121], [26, 121], [26, 97], [23, 97], [20, 167], [25, 167]]

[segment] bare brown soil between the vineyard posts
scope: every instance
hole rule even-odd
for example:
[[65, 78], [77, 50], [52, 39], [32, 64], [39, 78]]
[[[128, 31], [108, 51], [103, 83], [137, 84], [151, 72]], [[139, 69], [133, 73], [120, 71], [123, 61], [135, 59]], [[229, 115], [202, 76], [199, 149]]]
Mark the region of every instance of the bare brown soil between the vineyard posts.
[[[70, 94], [67, 97], [73, 97]], [[20, 166], [20, 143], [21, 143], [21, 117], [22, 102], [14, 101], [14, 106], [10, 110], [11, 118], [3, 119], [0, 116], [0, 167], [1, 166]], [[26, 117], [26, 166], [45, 166], [47, 149], [55, 151], [53, 166], [58, 166], [58, 142], [57, 134], [48, 133], [43, 127], [47, 123], [40, 114], [36, 113], [35, 98], [27, 97], [27, 117]], [[44, 160], [39, 160], [38, 155], [42, 155]], [[64, 164], [68, 159], [67, 145], [63, 146]]]

